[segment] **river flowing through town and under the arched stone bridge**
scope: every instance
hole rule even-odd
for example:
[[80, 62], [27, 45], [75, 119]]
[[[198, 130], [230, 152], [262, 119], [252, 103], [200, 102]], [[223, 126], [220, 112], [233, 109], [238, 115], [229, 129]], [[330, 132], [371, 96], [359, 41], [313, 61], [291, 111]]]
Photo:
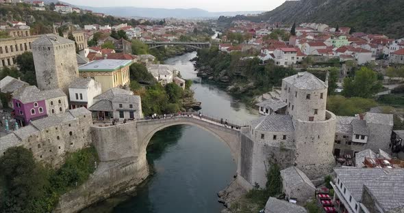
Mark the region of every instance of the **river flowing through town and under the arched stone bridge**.
[[[184, 79], [192, 79], [194, 97], [202, 102], [205, 115], [245, 123], [258, 117], [215, 85], [203, 83], [190, 59], [196, 52], [167, 59], [180, 70]], [[172, 126], [157, 132], [151, 139], [147, 158], [155, 173], [140, 186], [137, 195], [112, 210], [86, 212], [220, 212], [216, 193], [223, 190], [236, 174], [236, 163], [229, 147], [195, 126]]]

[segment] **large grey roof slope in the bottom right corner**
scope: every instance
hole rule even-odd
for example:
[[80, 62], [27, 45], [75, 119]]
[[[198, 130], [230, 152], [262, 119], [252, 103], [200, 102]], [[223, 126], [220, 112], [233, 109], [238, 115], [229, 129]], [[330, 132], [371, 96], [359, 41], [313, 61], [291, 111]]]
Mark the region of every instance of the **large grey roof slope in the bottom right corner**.
[[404, 209], [404, 169], [393, 169], [365, 186], [386, 212], [397, 207]]

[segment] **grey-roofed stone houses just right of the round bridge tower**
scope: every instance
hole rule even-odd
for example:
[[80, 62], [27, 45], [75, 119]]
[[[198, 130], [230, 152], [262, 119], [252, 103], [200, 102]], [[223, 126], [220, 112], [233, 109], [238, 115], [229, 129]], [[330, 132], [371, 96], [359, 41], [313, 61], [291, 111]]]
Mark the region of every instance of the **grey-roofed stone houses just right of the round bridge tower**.
[[337, 116], [333, 154], [355, 155], [363, 150], [390, 150], [393, 115], [366, 113], [357, 117]]

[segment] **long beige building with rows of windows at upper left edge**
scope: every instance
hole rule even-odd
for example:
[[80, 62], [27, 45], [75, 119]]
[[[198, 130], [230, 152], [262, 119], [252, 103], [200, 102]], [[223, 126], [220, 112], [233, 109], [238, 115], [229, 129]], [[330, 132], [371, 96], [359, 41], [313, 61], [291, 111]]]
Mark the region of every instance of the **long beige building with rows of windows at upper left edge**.
[[16, 57], [25, 51], [31, 52], [31, 44], [38, 39], [40, 35], [1, 38], [0, 39], [0, 68], [13, 66], [16, 63]]

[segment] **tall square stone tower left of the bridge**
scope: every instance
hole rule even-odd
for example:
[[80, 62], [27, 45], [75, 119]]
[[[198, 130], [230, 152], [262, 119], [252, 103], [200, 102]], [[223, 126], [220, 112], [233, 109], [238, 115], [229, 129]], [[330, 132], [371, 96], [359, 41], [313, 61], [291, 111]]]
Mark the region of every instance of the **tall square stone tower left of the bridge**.
[[38, 88], [60, 88], [68, 94], [68, 85], [79, 77], [75, 42], [54, 34], [42, 35], [32, 42], [32, 54]]

